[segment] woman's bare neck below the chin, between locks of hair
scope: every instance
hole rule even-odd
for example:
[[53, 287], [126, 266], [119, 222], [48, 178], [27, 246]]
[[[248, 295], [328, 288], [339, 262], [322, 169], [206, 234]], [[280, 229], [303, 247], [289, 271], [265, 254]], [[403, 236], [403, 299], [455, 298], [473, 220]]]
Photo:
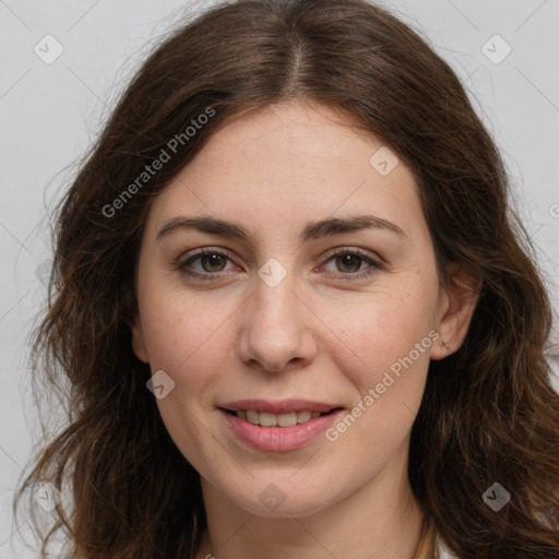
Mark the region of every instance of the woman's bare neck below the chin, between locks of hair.
[[367, 486], [306, 516], [257, 516], [202, 478], [207, 530], [197, 559], [419, 559], [424, 514], [407, 469], [377, 475]]

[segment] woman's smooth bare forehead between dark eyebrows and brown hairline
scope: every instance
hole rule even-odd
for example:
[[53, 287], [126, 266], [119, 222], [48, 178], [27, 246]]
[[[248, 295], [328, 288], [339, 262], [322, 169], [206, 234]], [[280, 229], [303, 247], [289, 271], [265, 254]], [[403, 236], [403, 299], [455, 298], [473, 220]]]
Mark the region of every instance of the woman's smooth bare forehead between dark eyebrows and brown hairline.
[[[245, 217], [269, 228], [355, 213], [420, 222], [414, 177], [386, 150], [330, 109], [266, 107], [210, 138], [155, 200], [152, 228], [180, 213]], [[393, 166], [388, 174], [379, 153]]]

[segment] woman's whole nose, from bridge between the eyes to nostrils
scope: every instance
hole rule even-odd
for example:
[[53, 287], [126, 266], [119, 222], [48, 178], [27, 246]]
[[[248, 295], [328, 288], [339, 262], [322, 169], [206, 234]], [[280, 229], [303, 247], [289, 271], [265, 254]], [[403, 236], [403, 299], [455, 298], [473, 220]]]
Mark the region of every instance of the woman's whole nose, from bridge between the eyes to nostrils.
[[243, 361], [276, 371], [292, 360], [309, 359], [314, 348], [309, 310], [295, 295], [295, 259], [282, 260], [271, 258], [258, 270], [239, 335]]

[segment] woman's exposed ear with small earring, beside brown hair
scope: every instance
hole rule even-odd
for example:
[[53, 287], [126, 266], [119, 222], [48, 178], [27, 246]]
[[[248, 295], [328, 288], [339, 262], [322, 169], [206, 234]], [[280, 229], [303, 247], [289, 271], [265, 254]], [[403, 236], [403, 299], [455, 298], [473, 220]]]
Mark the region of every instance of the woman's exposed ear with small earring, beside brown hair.
[[473, 266], [462, 263], [449, 266], [448, 278], [439, 297], [435, 328], [440, 337], [432, 346], [431, 359], [442, 359], [460, 348], [480, 292], [481, 276]]

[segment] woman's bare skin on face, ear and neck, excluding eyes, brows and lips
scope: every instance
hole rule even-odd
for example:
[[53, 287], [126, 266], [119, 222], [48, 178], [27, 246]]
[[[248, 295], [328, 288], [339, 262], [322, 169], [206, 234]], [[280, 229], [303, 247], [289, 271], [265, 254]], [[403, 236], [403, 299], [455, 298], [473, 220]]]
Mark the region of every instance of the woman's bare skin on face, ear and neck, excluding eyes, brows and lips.
[[[274, 105], [215, 133], [154, 201], [132, 345], [175, 382], [157, 404], [201, 474], [209, 531], [197, 559], [414, 556], [423, 514], [406, 474], [411, 429], [429, 359], [460, 347], [476, 296], [464, 266], [440, 284], [414, 177], [402, 162], [381, 176], [369, 164], [381, 146], [323, 107]], [[299, 241], [309, 221], [365, 213], [403, 235], [371, 228]], [[192, 229], [157, 239], [180, 215], [236, 222], [250, 242]], [[178, 270], [201, 247], [229, 253], [188, 265], [216, 281]], [[336, 262], [328, 254], [336, 247], [383, 265]], [[286, 271], [275, 287], [258, 275], [271, 258]], [[305, 397], [350, 412], [431, 331], [439, 341], [333, 442], [250, 449], [217, 411], [238, 399]], [[271, 483], [285, 496], [273, 511], [259, 499]]]

